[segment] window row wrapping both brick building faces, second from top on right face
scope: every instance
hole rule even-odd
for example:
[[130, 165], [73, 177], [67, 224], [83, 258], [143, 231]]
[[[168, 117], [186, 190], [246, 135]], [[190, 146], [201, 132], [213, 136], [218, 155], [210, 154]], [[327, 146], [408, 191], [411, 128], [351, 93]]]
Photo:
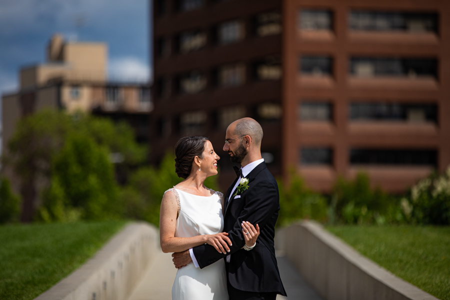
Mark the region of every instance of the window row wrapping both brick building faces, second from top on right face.
[[[300, 56], [298, 69], [307, 76], [332, 76], [333, 58], [329, 56]], [[251, 78], [257, 80], [278, 80], [281, 78], [281, 60], [279, 55], [264, 57], [250, 63]], [[230, 63], [213, 69], [209, 76], [211, 85], [219, 87], [236, 86], [245, 83], [247, 73], [243, 63]], [[420, 76], [437, 79], [437, 59], [435, 58], [380, 58], [351, 57], [348, 73], [354, 77], [406, 77]], [[176, 93], [197, 93], [204, 90], [208, 83], [208, 74], [197, 70], [174, 77]], [[172, 89], [168, 78], [156, 80], [157, 94], [165, 96]]]

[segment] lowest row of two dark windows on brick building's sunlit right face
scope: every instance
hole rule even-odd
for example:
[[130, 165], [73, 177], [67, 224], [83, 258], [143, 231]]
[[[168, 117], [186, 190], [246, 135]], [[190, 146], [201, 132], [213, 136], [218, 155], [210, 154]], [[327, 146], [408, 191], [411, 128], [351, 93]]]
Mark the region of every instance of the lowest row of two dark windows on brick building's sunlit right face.
[[[354, 165], [424, 165], [436, 166], [437, 151], [433, 149], [373, 149], [352, 148], [348, 153]], [[303, 147], [300, 149], [303, 165], [332, 165], [333, 149], [328, 147]]]

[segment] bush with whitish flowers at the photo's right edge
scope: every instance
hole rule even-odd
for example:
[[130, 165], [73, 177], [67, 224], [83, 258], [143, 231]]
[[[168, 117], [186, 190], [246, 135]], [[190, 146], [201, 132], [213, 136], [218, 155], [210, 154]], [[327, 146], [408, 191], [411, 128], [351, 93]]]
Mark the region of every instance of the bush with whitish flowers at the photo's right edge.
[[417, 182], [409, 198], [401, 200], [403, 213], [420, 224], [450, 224], [450, 166], [441, 174], [432, 174]]

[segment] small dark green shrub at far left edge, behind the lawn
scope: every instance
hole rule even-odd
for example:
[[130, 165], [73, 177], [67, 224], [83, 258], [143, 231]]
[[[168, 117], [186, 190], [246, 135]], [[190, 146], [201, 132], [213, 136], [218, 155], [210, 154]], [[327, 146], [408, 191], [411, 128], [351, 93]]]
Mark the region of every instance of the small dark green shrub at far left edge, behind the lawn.
[[20, 198], [11, 190], [9, 180], [0, 179], [0, 224], [18, 220]]

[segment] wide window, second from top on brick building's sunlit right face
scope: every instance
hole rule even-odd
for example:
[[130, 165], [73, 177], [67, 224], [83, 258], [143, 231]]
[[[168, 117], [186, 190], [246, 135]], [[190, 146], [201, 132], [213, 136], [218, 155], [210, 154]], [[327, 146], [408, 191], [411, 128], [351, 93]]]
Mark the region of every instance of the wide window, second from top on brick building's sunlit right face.
[[371, 76], [433, 76], [437, 77], [435, 58], [351, 57], [350, 74]]

